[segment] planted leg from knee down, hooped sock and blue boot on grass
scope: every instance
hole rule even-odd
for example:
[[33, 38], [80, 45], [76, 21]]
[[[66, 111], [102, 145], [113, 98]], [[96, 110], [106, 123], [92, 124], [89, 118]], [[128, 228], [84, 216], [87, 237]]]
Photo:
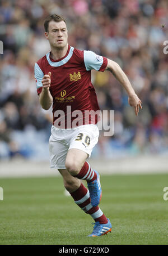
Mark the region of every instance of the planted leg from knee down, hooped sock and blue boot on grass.
[[63, 177], [64, 187], [85, 213], [91, 215], [95, 221], [94, 231], [90, 236], [101, 236], [111, 231], [111, 223], [102, 213], [99, 206], [92, 206], [90, 194], [87, 188], [81, 183], [80, 179], [73, 177], [66, 169], [58, 169]]

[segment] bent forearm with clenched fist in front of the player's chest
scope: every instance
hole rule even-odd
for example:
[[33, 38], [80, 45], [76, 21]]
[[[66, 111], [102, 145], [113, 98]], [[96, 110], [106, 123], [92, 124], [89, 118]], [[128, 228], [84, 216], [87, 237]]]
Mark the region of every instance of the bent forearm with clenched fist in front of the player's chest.
[[51, 84], [51, 72], [44, 75], [41, 83], [43, 85], [43, 89], [39, 96], [40, 105], [43, 107], [43, 109], [48, 110], [53, 103], [53, 97], [49, 91]]

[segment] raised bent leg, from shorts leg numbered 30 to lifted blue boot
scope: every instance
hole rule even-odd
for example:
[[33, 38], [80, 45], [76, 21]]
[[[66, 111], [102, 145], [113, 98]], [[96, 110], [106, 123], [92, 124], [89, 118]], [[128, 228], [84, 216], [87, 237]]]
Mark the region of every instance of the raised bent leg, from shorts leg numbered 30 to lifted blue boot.
[[66, 168], [72, 176], [87, 181], [91, 203], [97, 206], [101, 200], [100, 175], [93, 170], [86, 159], [91, 155], [99, 137], [96, 125], [83, 125], [75, 132], [66, 158]]

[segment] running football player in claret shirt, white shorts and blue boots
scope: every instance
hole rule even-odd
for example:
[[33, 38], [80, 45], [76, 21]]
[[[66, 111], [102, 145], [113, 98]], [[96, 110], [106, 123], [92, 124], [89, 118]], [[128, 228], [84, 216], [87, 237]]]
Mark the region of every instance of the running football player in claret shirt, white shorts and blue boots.
[[[102, 196], [100, 175], [86, 161], [99, 137], [99, 116], [87, 115], [86, 118], [85, 115], [86, 111], [99, 111], [91, 70], [109, 70], [125, 88], [136, 115], [142, 102], [116, 62], [92, 51], [69, 46], [63, 17], [48, 16], [44, 28], [51, 51], [36, 62], [35, 78], [41, 107], [48, 110], [53, 104], [50, 167], [59, 170], [74, 203], [94, 219], [94, 230], [89, 236], [101, 236], [111, 231], [111, 223], [99, 208]], [[88, 189], [81, 179], [87, 181]]]

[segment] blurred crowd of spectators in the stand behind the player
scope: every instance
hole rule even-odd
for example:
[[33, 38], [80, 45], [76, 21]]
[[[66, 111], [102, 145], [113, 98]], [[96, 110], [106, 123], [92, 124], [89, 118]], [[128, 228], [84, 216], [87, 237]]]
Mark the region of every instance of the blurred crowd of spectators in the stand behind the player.
[[114, 135], [100, 131], [92, 155], [168, 154], [167, 0], [2, 0], [0, 159], [48, 159], [52, 110], [40, 107], [34, 64], [50, 51], [43, 24], [54, 13], [67, 20], [69, 45], [116, 61], [142, 100], [137, 117], [113, 75], [92, 71], [100, 109], [115, 113]]

